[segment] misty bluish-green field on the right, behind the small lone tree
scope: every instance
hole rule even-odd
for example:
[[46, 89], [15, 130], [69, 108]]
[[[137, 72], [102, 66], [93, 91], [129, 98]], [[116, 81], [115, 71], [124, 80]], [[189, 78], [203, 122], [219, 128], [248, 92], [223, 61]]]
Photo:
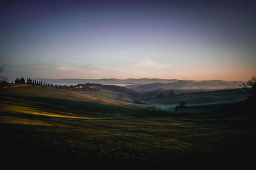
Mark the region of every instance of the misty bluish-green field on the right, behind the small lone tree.
[[156, 106], [160, 110], [174, 111], [180, 101], [187, 103], [188, 113], [204, 113], [217, 111], [223, 106], [245, 100], [246, 97], [240, 90], [227, 90], [184, 94], [156, 100], [147, 101], [148, 106]]

